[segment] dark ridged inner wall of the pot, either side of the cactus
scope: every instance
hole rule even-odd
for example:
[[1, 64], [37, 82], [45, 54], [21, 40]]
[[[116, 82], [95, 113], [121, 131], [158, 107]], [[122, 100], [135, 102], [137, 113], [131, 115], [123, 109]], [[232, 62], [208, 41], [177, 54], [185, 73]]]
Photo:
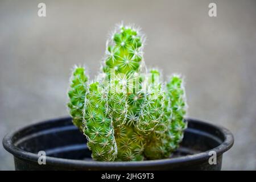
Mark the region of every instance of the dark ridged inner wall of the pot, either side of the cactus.
[[[217, 127], [193, 119], [187, 121], [183, 142], [170, 158], [205, 152], [224, 142], [224, 134]], [[34, 154], [45, 151], [47, 156], [55, 158], [92, 160], [86, 138], [73, 126], [71, 118], [25, 127], [16, 132], [12, 140], [16, 147]]]

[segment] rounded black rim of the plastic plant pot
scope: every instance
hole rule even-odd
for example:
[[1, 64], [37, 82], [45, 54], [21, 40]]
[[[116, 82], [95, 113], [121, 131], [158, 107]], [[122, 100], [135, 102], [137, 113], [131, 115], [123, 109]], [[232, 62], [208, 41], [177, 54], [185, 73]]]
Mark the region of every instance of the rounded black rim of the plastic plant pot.
[[[63, 117], [59, 119], [68, 119], [69, 117]], [[46, 120], [51, 121], [53, 119]], [[233, 134], [226, 129], [225, 127], [218, 126], [218, 125], [213, 125], [208, 122], [203, 122], [200, 119], [195, 119], [195, 118], [187, 118], [188, 121], [196, 122], [199, 124], [204, 124], [208, 125], [209, 127], [214, 127], [220, 133], [224, 136], [224, 142], [222, 142], [219, 146], [212, 148], [210, 150], [200, 152], [199, 154], [193, 154], [193, 155], [187, 155], [187, 156], [181, 156], [178, 158], [168, 158], [168, 159], [157, 159], [157, 160], [143, 160], [143, 161], [133, 161], [133, 162], [99, 162], [96, 160], [92, 161], [87, 161], [87, 160], [76, 160], [76, 159], [64, 159], [64, 158], [55, 158], [51, 156], [46, 156], [46, 161], [47, 164], [54, 164], [54, 165], [61, 165], [61, 166], [74, 166], [74, 167], [79, 167], [79, 166], [87, 166], [87, 167], [116, 167], [116, 166], [126, 166], [126, 167], [135, 167], [135, 166], [157, 166], [159, 164], [164, 165], [164, 164], [174, 164], [174, 163], [196, 163], [200, 162], [202, 160], [209, 159], [209, 151], [215, 151], [217, 156], [222, 155], [224, 152], [228, 151], [234, 144], [234, 137]], [[21, 148], [18, 148], [14, 145], [13, 142], [13, 137], [16, 133], [18, 133], [20, 130], [24, 130], [27, 127], [32, 127], [36, 126], [39, 123], [43, 122], [38, 122], [34, 123], [32, 125], [27, 125], [24, 126], [20, 129], [16, 129], [12, 131], [9, 134], [6, 134], [5, 137], [3, 138], [3, 147], [5, 150], [10, 152], [11, 154], [14, 155], [15, 158], [22, 158], [31, 162], [38, 163], [38, 158], [39, 156], [37, 154], [34, 154], [32, 152], [27, 152], [22, 150]]]

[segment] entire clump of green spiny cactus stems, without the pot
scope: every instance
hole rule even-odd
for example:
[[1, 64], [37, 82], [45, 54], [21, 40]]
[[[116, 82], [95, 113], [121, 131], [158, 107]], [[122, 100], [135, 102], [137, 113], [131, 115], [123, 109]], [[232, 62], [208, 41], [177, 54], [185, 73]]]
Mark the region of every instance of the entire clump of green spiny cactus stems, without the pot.
[[183, 139], [183, 80], [172, 75], [165, 83], [157, 69], [145, 71], [143, 46], [138, 28], [121, 24], [106, 44], [95, 81], [88, 82], [84, 67], [73, 70], [69, 112], [95, 160], [168, 158]]

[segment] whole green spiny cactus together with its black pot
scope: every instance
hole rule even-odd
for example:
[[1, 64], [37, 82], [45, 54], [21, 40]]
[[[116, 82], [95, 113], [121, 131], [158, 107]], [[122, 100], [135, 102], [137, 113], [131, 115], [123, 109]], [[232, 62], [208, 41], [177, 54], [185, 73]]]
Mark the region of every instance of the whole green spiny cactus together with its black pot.
[[[158, 69], [147, 69], [143, 46], [138, 28], [121, 24], [106, 43], [94, 80], [75, 66], [68, 89], [71, 117], [30, 125], [3, 139], [15, 168], [221, 169], [233, 135], [184, 118], [182, 77], [174, 74], [164, 82]], [[46, 165], [39, 163], [39, 152], [46, 154]], [[214, 165], [208, 162], [212, 152]]]

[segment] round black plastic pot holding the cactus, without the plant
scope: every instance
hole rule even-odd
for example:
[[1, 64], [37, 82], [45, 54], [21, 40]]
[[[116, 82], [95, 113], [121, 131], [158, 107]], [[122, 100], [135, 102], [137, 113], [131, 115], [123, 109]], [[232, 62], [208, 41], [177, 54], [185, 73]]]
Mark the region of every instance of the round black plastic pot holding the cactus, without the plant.
[[[223, 127], [187, 119], [188, 129], [169, 159], [142, 162], [96, 162], [90, 157], [85, 136], [71, 118], [44, 121], [7, 134], [3, 146], [14, 155], [16, 170], [220, 170], [222, 154], [233, 146], [233, 135]], [[46, 152], [39, 165], [38, 152]], [[215, 151], [217, 164], [209, 164]]]

